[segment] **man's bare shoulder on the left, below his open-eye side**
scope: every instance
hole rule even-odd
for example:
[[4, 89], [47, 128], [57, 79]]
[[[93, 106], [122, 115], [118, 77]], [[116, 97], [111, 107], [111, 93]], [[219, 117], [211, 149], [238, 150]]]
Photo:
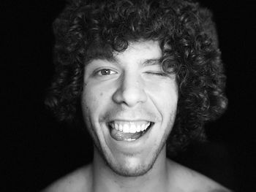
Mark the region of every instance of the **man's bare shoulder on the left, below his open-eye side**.
[[42, 192], [80, 192], [91, 191], [91, 164], [56, 180]]

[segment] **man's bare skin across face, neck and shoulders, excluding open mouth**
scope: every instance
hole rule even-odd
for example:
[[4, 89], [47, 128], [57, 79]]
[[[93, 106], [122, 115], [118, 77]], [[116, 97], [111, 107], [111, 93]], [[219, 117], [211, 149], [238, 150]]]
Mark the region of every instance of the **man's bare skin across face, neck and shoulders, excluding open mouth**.
[[[86, 65], [81, 104], [94, 140], [94, 161], [46, 191], [227, 191], [166, 158], [178, 88], [175, 74], [162, 72], [161, 56], [158, 42], [132, 42], [113, 60], [94, 59]], [[134, 142], [116, 141], [108, 127], [113, 120], [154, 125]]]

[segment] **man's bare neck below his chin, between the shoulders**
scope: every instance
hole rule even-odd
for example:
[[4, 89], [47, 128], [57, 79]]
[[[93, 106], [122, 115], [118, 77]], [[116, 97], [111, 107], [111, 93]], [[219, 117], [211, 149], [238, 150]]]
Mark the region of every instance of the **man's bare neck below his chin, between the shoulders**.
[[154, 166], [146, 174], [139, 177], [124, 177], [113, 172], [99, 152], [94, 149], [94, 191], [166, 191], [168, 174], [165, 150], [163, 147]]

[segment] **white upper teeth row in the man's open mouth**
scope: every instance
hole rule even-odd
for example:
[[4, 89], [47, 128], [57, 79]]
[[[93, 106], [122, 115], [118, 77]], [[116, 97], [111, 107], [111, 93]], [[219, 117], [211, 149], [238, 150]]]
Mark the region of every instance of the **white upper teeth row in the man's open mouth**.
[[110, 123], [110, 126], [112, 128], [116, 128], [118, 131], [122, 131], [124, 133], [131, 133], [134, 134], [136, 132], [140, 131], [145, 131], [148, 126], [150, 126], [149, 122], [146, 123], [134, 123], [134, 122], [126, 122], [126, 123], [118, 123], [118, 122], [113, 122]]

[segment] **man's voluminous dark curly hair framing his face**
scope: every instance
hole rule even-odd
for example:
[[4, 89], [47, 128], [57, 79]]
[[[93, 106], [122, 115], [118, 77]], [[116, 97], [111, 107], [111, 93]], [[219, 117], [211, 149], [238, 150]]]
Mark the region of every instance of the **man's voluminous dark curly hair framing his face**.
[[227, 107], [225, 74], [211, 12], [190, 0], [70, 0], [53, 23], [56, 76], [45, 104], [56, 117], [80, 114], [84, 66], [112, 57], [141, 39], [159, 41], [162, 69], [178, 84], [170, 155], [192, 140], [206, 139], [204, 124]]

